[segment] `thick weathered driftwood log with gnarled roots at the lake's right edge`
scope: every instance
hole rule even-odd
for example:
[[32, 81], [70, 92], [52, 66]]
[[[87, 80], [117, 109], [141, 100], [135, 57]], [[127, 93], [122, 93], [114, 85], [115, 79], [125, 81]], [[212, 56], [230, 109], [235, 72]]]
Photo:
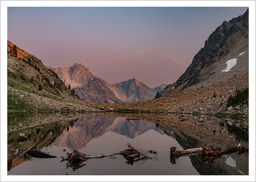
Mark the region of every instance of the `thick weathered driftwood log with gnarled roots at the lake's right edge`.
[[241, 146], [241, 143], [235, 146], [227, 146], [226, 149], [222, 150], [221, 148], [213, 148], [211, 145], [204, 144], [202, 147], [194, 149], [185, 149], [176, 151], [176, 147], [171, 147], [170, 149], [170, 161], [172, 164], [176, 164], [176, 159], [181, 156], [190, 156], [197, 155], [203, 157], [203, 162], [208, 164], [211, 163], [214, 159], [220, 158], [221, 155], [232, 154], [238, 152], [241, 155], [244, 152], [249, 153], [249, 149], [245, 149], [244, 146]]

